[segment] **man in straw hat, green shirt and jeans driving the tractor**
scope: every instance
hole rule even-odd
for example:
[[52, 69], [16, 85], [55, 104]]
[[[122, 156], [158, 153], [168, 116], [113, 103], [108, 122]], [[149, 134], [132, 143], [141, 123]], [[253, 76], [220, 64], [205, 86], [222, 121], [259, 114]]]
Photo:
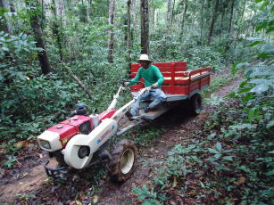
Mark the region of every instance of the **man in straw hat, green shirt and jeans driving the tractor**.
[[[139, 81], [140, 78], [143, 78], [146, 86], [152, 86], [153, 89], [148, 93], [142, 94], [136, 102], [131, 106], [128, 117], [134, 117], [139, 114], [140, 102], [142, 100], [152, 100], [149, 103], [148, 107], [145, 108], [145, 112], [152, 111], [154, 108], [166, 100], [166, 95], [162, 92], [161, 86], [164, 81], [161, 71], [154, 65], [151, 65], [151, 60], [149, 60], [147, 54], [141, 54], [138, 62], [141, 64], [141, 68], [137, 71], [137, 75], [132, 81]], [[133, 82], [125, 83], [125, 86], [134, 85]]]

